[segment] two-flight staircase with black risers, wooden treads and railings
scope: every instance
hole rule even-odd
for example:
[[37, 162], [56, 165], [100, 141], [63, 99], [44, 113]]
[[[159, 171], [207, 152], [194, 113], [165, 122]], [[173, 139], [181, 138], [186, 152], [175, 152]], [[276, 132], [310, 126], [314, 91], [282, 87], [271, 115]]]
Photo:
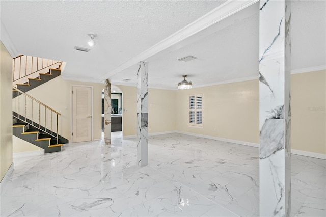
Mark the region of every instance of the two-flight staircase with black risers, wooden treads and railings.
[[[34, 70], [33, 60], [34, 68], [36, 68]], [[44, 60], [47, 60], [47, 64]], [[37, 67], [35, 67], [35, 62], [37, 62]], [[13, 135], [43, 148], [45, 153], [61, 151], [62, 145], [69, 142], [58, 133], [61, 114], [25, 92], [60, 76], [61, 63], [29, 56], [18, 56], [13, 59], [13, 85], [16, 86], [13, 86], [12, 94]], [[24, 68], [22, 69], [21, 66]], [[53, 66], [57, 68], [50, 68]]]

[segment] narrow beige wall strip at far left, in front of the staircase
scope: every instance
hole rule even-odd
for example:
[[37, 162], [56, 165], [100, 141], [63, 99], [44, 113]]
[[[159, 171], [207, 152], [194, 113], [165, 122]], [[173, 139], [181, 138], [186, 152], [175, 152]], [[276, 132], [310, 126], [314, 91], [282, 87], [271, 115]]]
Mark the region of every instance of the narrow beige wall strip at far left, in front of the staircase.
[[12, 164], [12, 57], [0, 43], [0, 180]]

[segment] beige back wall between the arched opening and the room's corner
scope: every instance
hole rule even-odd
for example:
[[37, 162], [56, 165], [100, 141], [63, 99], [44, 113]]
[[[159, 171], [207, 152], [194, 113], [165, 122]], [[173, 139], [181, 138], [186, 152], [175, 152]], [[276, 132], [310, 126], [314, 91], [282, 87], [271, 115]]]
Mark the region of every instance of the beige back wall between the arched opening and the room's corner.
[[[122, 91], [123, 135], [135, 135], [136, 128], [136, 87], [117, 86]], [[176, 130], [176, 91], [148, 90], [148, 132]]]

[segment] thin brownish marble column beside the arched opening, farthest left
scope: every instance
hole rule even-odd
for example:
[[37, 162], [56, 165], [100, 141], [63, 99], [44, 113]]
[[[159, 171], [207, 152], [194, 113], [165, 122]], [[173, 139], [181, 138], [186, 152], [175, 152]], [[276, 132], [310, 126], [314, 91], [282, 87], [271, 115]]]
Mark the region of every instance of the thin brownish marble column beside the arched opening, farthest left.
[[111, 144], [111, 83], [105, 80], [104, 87], [104, 142]]

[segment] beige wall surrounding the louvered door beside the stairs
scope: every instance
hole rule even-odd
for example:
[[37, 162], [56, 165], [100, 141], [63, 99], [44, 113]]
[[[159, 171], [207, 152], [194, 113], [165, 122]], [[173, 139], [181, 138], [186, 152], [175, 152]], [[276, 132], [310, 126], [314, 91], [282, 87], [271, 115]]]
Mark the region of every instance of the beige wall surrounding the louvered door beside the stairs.
[[34, 88], [27, 94], [36, 98], [40, 102], [51, 107], [53, 110], [61, 114], [59, 118], [59, 134], [64, 138], [71, 139], [71, 87], [73, 85], [93, 86], [93, 101], [94, 101], [94, 140], [101, 139], [101, 122], [102, 122], [102, 90], [104, 84], [75, 82], [72, 80], [64, 80], [61, 76], [49, 80], [47, 83]]

